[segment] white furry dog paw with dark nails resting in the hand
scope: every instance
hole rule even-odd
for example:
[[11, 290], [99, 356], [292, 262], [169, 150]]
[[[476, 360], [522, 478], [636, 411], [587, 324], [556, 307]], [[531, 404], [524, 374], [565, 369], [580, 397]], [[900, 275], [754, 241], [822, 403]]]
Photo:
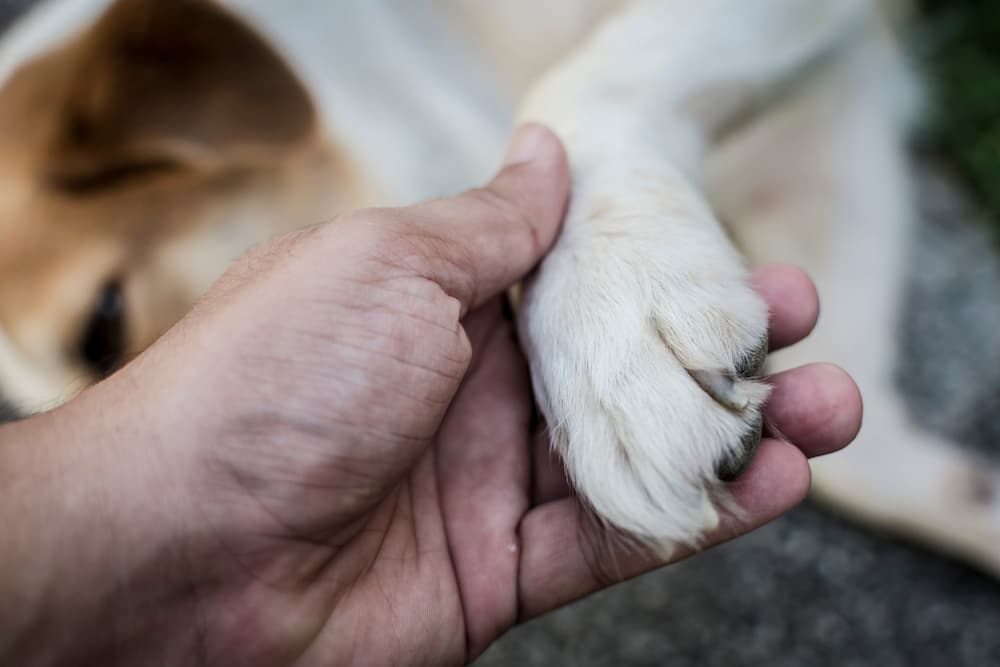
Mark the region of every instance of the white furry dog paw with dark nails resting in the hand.
[[718, 524], [769, 393], [757, 378], [766, 305], [707, 207], [673, 204], [653, 215], [574, 203], [520, 308], [536, 397], [577, 493], [664, 552]]

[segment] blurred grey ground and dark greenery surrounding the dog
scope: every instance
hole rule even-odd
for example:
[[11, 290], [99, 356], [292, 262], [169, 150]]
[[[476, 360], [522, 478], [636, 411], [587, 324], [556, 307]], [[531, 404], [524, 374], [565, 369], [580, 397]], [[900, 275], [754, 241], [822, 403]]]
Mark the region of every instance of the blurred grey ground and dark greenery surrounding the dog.
[[[0, 0], [0, 33], [31, 4]], [[1000, 459], [1000, 3], [920, 4], [907, 39], [933, 102], [898, 380], [915, 419]], [[807, 503], [528, 623], [477, 664], [1000, 665], [1000, 582]]]

